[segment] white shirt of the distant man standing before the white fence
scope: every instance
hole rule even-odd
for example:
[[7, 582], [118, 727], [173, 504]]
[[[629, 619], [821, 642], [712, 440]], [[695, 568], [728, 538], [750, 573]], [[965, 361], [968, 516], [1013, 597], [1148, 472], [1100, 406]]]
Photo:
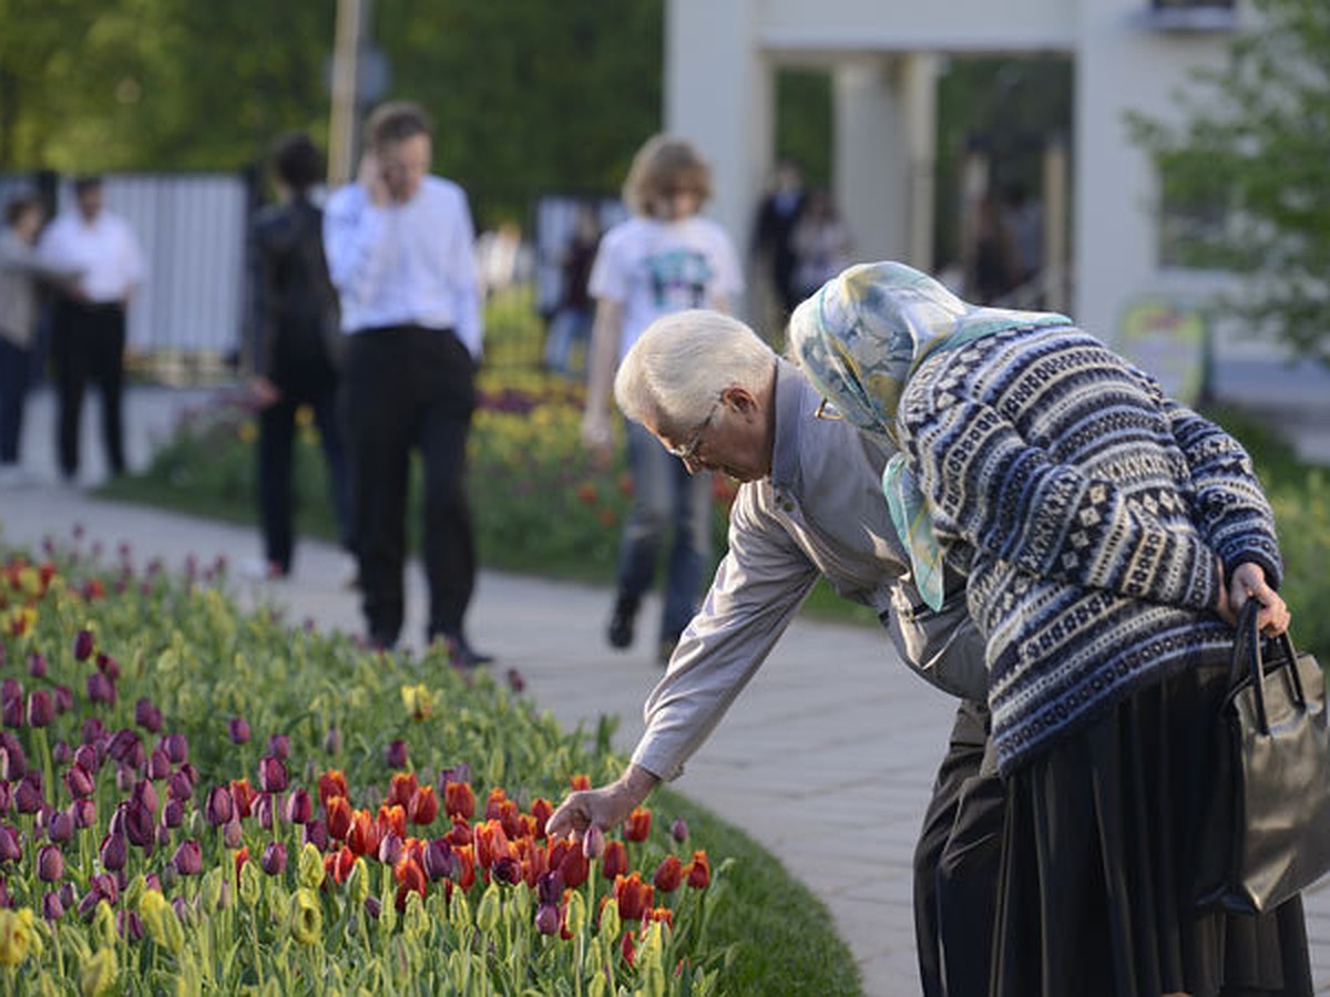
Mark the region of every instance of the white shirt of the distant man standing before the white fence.
[[133, 229], [106, 209], [90, 222], [77, 210], [63, 213], [43, 233], [37, 253], [49, 270], [80, 273], [78, 290], [93, 304], [126, 300], [148, 273]]

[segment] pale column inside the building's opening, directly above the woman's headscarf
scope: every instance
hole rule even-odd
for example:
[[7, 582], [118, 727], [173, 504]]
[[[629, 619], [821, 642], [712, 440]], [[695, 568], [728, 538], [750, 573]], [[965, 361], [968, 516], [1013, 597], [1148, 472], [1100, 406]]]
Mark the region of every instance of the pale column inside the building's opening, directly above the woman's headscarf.
[[835, 193], [858, 259], [910, 253], [910, 153], [906, 109], [887, 58], [839, 64], [833, 76]]

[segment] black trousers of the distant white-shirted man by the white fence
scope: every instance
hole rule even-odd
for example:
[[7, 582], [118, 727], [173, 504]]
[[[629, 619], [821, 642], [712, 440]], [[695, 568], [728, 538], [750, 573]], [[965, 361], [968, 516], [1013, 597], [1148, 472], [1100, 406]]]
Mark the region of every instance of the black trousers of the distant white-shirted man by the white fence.
[[124, 307], [61, 300], [56, 306], [51, 352], [60, 395], [60, 471], [66, 479], [78, 473], [78, 427], [84, 389], [90, 379], [101, 393], [101, 433], [106, 447], [106, 464], [110, 473], [124, 473]]

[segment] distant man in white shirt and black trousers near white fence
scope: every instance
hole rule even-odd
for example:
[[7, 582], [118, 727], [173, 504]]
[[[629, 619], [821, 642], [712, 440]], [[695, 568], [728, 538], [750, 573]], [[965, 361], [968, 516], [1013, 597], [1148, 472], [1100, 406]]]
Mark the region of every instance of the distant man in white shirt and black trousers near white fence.
[[108, 469], [113, 476], [125, 472], [125, 319], [146, 274], [133, 230], [105, 207], [101, 177], [76, 179], [74, 202], [74, 210], [61, 213], [39, 243], [45, 266], [81, 274], [73, 283], [57, 286], [52, 320], [59, 459], [66, 484], [78, 476], [80, 420], [89, 379], [101, 393]]

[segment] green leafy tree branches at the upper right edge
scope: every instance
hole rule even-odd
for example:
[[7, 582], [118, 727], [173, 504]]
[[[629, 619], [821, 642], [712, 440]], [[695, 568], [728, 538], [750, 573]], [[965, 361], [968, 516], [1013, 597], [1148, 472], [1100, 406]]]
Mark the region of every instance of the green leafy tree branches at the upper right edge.
[[1182, 261], [1245, 279], [1226, 304], [1330, 364], [1330, 4], [1253, 0], [1257, 27], [1197, 74], [1184, 124], [1133, 118], [1160, 165]]

